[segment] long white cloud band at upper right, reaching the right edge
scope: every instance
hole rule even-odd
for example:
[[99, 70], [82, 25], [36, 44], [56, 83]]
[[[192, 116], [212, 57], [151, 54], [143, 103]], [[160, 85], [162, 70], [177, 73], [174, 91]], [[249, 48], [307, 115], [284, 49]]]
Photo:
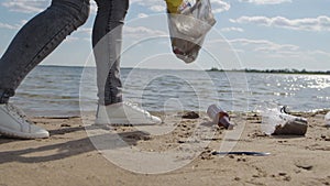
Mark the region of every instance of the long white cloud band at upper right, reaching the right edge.
[[317, 18], [304, 18], [289, 20], [284, 17], [241, 17], [230, 19], [232, 23], [253, 23], [257, 25], [284, 28], [300, 31], [330, 31], [330, 18], [320, 15]]

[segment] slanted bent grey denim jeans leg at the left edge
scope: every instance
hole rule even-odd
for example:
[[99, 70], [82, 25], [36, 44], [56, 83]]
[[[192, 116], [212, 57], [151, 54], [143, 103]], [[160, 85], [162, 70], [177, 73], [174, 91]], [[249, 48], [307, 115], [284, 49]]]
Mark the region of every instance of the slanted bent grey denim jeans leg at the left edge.
[[88, 14], [89, 0], [53, 0], [18, 32], [0, 58], [0, 103], [8, 102], [24, 77], [84, 24]]

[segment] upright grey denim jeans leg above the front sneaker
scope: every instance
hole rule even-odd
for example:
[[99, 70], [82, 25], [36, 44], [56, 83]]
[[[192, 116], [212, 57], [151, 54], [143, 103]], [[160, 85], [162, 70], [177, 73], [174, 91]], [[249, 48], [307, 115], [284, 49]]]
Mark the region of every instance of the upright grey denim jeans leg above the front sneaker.
[[122, 101], [120, 55], [122, 28], [129, 0], [96, 0], [98, 12], [92, 30], [92, 46], [97, 65], [100, 105]]

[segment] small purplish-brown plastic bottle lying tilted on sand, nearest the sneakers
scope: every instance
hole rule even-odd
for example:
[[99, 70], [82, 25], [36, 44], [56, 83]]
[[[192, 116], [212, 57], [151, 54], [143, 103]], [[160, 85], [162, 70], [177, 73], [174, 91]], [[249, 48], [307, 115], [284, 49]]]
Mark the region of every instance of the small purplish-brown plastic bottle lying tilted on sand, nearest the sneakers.
[[229, 114], [217, 105], [209, 106], [207, 113], [215, 124], [224, 127], [228, 130], [233, 129], [234, 124], [229, 121]]

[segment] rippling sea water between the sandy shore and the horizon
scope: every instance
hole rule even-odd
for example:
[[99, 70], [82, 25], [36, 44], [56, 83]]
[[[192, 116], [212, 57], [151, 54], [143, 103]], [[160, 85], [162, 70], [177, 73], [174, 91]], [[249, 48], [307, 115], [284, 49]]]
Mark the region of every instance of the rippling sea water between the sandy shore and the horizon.
[[[95, 74], [92, 67], [38, 66], [11, 101], [33, 116], [79, 116], [81, 106], [94, 111]], [[124, 100], [150, 111], [206, 111], [212, 103], [252, 111], [265, 101], [292, 111], [330, 108], [329, 75], [122, 68], [121, 77]]]

